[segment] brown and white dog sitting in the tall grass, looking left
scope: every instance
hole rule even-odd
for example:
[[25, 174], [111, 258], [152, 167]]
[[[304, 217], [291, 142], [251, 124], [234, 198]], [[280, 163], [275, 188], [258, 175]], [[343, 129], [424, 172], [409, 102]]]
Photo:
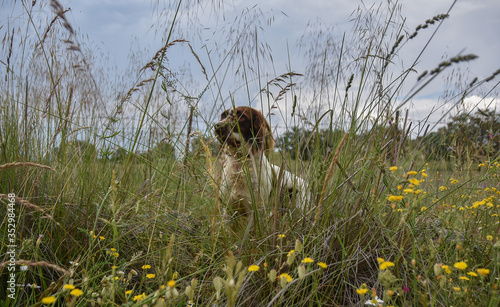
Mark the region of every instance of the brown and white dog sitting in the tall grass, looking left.
[[273, 195], [281, 200], [288, 195], [295, 207], [305, 205], [306, 182], [267, 159], [274, 139], [261, 112], [250, 107], [228, 109], [214, 129], [221, 143], [219, 197], [235, 215], [252, 218], [255, 209], [268, 209]]

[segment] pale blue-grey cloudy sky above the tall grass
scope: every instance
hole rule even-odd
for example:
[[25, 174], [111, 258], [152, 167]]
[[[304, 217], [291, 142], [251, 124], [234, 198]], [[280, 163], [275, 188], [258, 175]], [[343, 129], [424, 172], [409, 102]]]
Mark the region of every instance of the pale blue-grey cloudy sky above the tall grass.
[[[151, 59], [157, 50], [163, 47], [177, 3], [158, 0], [58, 1], [64, 8], [70, 8], [66, 16], [71, 25], [107, 55], [104, 65], [114, 67], [114, 73], [122, 75], [128, 74], [127, 69], [131, 66], [137, 67], [136, 70], [138, 70], [141, 65]], [[40, 2], [43, 3], [43, 1]], [[50, 1], [45, 2], [48, 4]], [[9, 3], [10, 1], [2, 2], [1, 20], [6, 20], [6, 16], [13, 15], [12, 6]], [[338, 45], [343, 34], [352, 31], [354, 23], [352, 19], [355, 16], [353, 12], [358, 8], [376, 10], [380, 3], [382, 3], [381, 7], [386, 7], [384, 4], [388, 1], [185, 0], [181, 6], [179, 23], [174, 29], [172, 39], [189, 40], [194, 51], [200, 56], [200, 61], [208, 70], [210, 70], [210, 63], [215, 62], [215, 64], [212, 63], [215, 67], [221, 65], [229, 71], [229, 77], [225, 77], [229, 79], [232, 74], [238, 74], [238, 72], [235, 73], [234, 67], [220, 64], [224, 63], [224, 58], [217, 56], [216, 52], [229, 50], [232, 47], [225, 44], [227, 44], [228, 37], [233, 39], [235, 37], [232, 32], [237, 32], [237, 27], [233, 25], [239, 27], [248, 25], [248, 31], [255, 28], [259, 33], [259, 43], [262, 42], [263, 64], [259, 65], [265, 67], [265, 72], [261, 73], [265, 75], [261, 82], [265, 82], [290, 69], [307, 74], [307, 63], [303, 59], [303, 53], [307, 46], [314, 46], [311, 41], [308, 41], [308, 35], [317, 34], [313, 31], [314, 29], [321, 29], [324, 32], [323, 37], [330, 37]], [[399, 2], [401, 11], [397, 14], [401, 20], [405, 21], [404, 30], [412, 32], [425, 20], [446, 13], [453, 3], [451, 0], [402, 0]], [[50, 11], [50, 7], [41, 5], [39, 10]], [[435, 28], [436, 25], [421, 31], [418, 40], [409, 42], [405, 48], [401, 49], [397, 60], [412, 62]], [[440, 62], [455, 55], [472, 53], [478, 55], [479, 58], [460, 65], [459, 71], [465, 74], [467, 80], [472, 80], [474, 77], [479, 79], [488, 77], [500, 68], [499, 30], [500, 1], [457, 1], [450, 11], [450, 17], [443, 22], [424, 55], [420, 57], [419, 73], [423, 70], [432, 70]], [[240, 35], [243, 34], [240, 33]], [[204, 83], [203, 77], [200, 77], [198, 64], [185, 44], [181, 45], [183, 46], [175, 46], [172, 51], [169, 51], [169, 64], [177, 67], [179, 73], [190, 75], [193, 80], [190, 84], [194, 88], [200, 87], [194, 92], [200, 92], [203, 90]], [[241, 48], [252, 50], [251, 46], [241, 46]], [[311, 48], [314, 49], [314, 47]], [[131, 60], [131, 54], [134, 55], [133, 60]], [[247, 63], [249, 67], [252, 66], [251, 64]], [[185, 67], [190, 67], [190, 69], [184, 71]], [[413, 78], [416, 79], [416, 76]], [[414, 97], [408, 105], [410, 118], [421, 120], [437, 107], [440, 111], [434, 112], [428, 121], [437, 124], [436, 127], [444, 125], [440, 117], [454, 105], [454, 101], [444, 101], [445, 88], [449, 87], [450, 83], [458, 82], [450, 78], [446, 75], [437, 78], [425, 91]], [[482, 92], [471, 93], [465, 101], [471, 106], [479, 103], [480, 106], [495, 107], [500, 103], [499, 90], [494, 87], [499, 79], [500, 76], [497, 76], [489, 87], [482, 89]], [[259, 99], [254, 99], [258, 96], [257, 92], [260, 88], [258, 84], [254, 84], [248, 90], [238, 91], [241, 84], [225, 82], [228, 84], [227, 88], [223, 87], [224, 91], [220, 93], [224, 97], [217, 98], [217, 90], [210, 90], [211, 95], [208, 95], [207, 99], [220, 99], [221, 106], [209, 111], [204, 110], [205, 121], [214, 121], [220, 113], [219, 110], [230, 105], [230, 97], [240, 100], [245, 95], [252, 96], [252, 98], [247, 98], [245, 103], [250, 100], [252, 105], [259, 105]], [[492, 87], [493, 91], [488, 92]], [[286, 103], [290, 104], [291, 101]], [[281, 114], [282, 117], [290, 115], [290, 107], [283, 107], [283, 110], [285, 109], [288, 115]], [[287, 121], [285, 118], [281, 120]]]

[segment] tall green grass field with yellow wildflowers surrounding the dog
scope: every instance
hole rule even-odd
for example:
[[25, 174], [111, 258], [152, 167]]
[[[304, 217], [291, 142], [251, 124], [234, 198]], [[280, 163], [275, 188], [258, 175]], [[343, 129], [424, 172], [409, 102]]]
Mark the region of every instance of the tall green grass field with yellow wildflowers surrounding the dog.
[[[43, 32], [35, 21], [27, 26], [36, 32], [32, 41], [4, 40], [0, 305], [499, 305], [498, 157], [425, 157], [428, 144], [410, 135], [424, 135], [427, 126], [402, 115], [438, 75], [474, 59], [452, 57], [426, 74], [418, 58], [394, 68], [401, 48], [421, 31], [437, 31], [446, 15], [408, 34], [397, 5], [378, 18], [364, 18], [378, 14], [371, 11], [355, 18], [358, 48], [339, 47], [336, 62], [308, 70], [334, 72], [313, 78], [324, 94], [311, 102], [318, 116], [303, 111], [308, 96], [293, 72], [263, 82], [253, 106], [295, 113], [311, 140], [329, 136], [329, 148], [310, 142], [308, 160], [274, 152], [271, 162], [308, 181], [311, 201], [293, 213], [273, 210], [280, 205], [274, 198], [257, 204], [264, 209], [244, 233], [228, 227], [217, 197], [212, 131], [192, 127], [193, 118], [210, 127], [215, 117], [204, 110], [219, 110], [227, 96], [218, 87], [222, 64], [197, 57], [212, 90], [183, 93], [165, 58], [183, 42], [169, 34], [150, 63], [132, 68], [148, 74], [117, 90], [59, 2], [51, 4], [54, 21]], [[407, 86], [415, 70], [420, 78]], [[467, 82], [448, 101], [493, 88], [492, 79]], [[214, 102], [203, 105], [208, 92]], [[320, 135], [325, 122], [341, 133]]]

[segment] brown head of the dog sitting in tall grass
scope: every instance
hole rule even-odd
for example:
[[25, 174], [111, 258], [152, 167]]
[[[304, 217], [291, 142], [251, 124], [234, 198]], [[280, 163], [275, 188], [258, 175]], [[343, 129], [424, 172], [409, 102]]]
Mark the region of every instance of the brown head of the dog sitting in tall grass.
[[228, 109], [214, 125], [215, 134], [230, 149], [245, 148], [252, 153], [267, 151], [274, 147], [273, 134], [262, 113], [250, 107]]

